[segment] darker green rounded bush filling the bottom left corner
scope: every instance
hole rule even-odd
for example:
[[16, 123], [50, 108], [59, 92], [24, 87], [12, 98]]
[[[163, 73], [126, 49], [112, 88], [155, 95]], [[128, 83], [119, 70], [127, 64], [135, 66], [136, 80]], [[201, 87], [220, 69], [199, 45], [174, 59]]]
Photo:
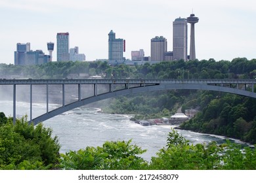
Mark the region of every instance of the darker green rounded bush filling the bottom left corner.
[[59, 164], [57, 137], [42, 124], [33, 126], [26, 118], [6, 118], [0, 112], [0, 169], [56, 169]]

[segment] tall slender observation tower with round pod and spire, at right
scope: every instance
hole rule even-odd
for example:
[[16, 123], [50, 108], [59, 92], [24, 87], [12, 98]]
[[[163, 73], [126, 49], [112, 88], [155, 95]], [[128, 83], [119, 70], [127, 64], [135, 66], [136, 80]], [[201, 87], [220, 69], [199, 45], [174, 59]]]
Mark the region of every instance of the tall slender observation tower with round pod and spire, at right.
[[195, 16], [195, 14], [190, 14], [188, 18], [186, 18], [186, 22], [191, 24], [190, 30], [190, 60], [196, 59], [196, 46], [195, 46], [195, 24], [198, 23], [199, 18]]

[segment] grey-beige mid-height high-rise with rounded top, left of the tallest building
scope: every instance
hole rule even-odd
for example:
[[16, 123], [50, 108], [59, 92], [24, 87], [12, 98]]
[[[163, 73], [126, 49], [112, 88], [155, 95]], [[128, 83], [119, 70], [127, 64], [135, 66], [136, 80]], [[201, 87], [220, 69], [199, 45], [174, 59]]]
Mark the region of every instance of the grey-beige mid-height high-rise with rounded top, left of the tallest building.
[[167, 52], [167, 40], [160, 36], [151, 39], [151, 60], [165, 61], [165, 52]]

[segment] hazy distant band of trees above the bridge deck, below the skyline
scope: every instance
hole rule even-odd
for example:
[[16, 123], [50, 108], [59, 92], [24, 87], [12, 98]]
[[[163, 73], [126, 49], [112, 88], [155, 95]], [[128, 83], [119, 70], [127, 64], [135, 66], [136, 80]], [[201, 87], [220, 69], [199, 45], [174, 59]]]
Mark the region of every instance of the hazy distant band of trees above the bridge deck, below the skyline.
[[[0, 64], [0, 78], [68, 78], [102, 75], [104, 78], [255, 78], [256, 59], [235, 58], [232, 61], [194, 60], [163, 61], [112, 66], [107, 61], [54, 61], [43, 65]], [[81, 76], [81, 75], [80, 75]]]

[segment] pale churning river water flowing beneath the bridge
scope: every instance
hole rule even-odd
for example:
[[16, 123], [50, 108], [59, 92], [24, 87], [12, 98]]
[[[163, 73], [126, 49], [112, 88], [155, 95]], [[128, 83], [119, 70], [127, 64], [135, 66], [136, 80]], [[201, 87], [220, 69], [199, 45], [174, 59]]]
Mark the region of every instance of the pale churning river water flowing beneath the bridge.
[[[50, 105], [50, 109], [56, 107], [58, 105]], [[33, 104], [33, 118], [45, 113], [45, 111], [45, 105]], [[6, 116], [12, 116], [12, 101], [0, 101], [0, 112], [5, 112]], [[28, 119], [30, 119], [30, 104], [17, 102], [16, 114], [18, 117], [27, 114]], [[125, 114], [104, 114], [100, 112], [100, 108], [80, 107], [55, 116], [43, 124], [45, 127], [51, 127], [53, 135], [58, 137], [61, 153], [79, 150], [87, 146], [102, 146], [105, 141], [129, 141], [132, 139], [132, 144], [147, 150], [141, 156], [150, 161], [151, 157], [156, 156], [156, 152], [166, 145], [167, 135], [175, 126], [143, 126], [130, 121], [130, 118], [131, 116]], [[226, 139], [226, 137], [217, 135], [180, 129], [177, 131], [193, 144], [211, 141], [224, 142]]]

